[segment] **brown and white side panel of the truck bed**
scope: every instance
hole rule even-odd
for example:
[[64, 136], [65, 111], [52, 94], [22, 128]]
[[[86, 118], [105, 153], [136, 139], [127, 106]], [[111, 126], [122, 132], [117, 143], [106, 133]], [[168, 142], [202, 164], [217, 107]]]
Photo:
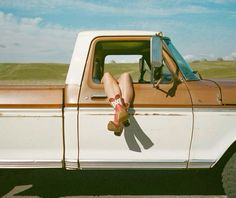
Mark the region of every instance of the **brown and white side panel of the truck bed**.
[[0, 87], [0, 167], [57, 168], [63, 160], [63, 87]]

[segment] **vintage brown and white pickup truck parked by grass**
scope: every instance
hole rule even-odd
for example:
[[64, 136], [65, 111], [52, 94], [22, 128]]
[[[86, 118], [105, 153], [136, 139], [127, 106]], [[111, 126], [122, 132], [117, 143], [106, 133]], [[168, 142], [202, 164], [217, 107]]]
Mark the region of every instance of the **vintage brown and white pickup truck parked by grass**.
[[[133, 78], [120, 136], [107, 130], [104, 72]], [[79, 33], [64, 86], [0, 86], [0, 126], [0, 168], [195, 169], [224, 159], [223, 186], [236, 193], [236, 81], [202, 79], [162, 33]]]

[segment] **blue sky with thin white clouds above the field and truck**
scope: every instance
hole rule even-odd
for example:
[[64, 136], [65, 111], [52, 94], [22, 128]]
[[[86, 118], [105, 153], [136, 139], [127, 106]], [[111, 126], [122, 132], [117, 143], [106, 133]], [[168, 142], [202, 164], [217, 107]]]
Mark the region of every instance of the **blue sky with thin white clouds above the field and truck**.
[[162, 31], [188, 60], [236, 59], [236, 0], [0, 0], [0, 62], [69, 63], [78, 32]]

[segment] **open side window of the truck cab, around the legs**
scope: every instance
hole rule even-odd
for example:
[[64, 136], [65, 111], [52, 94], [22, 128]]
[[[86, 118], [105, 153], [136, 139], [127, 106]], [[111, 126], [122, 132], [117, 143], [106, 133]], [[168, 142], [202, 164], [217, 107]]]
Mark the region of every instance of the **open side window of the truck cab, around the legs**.
[[[150, 41], [97, 42], [93, 60], [93, 82], [100, 84], [105, 72], [111, 73], [115, 78], [128, 72], [134, 83], [150, 83]], [[173, 79], [165, 61], [155, 75], [156, 79], [161, 78], [161, 84], [171, 83]]]

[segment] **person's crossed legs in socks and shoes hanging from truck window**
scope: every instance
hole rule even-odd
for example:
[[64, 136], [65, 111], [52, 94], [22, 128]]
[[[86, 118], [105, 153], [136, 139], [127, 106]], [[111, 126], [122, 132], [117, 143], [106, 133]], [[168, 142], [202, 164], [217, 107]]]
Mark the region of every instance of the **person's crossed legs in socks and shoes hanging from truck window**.
[[114, 120], [109, 121], [107, 128], [115, 134], [129, 125], [128, 108], [134, 97], [133, 81], [129, 73], [125, 72], [116, 80], [109, 72], [105, 72], [101, 82], [111, 106], [114, 108]]

